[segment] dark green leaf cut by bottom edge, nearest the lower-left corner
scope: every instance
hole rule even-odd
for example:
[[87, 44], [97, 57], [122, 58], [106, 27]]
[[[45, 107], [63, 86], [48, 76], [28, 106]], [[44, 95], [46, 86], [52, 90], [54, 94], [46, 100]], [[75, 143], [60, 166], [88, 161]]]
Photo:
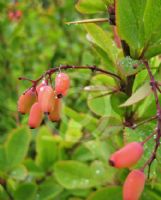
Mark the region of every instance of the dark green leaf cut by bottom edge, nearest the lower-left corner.
[[36, 185], [33, 183], [21, 183], [14, 192], [15, 200], [35, 200]]

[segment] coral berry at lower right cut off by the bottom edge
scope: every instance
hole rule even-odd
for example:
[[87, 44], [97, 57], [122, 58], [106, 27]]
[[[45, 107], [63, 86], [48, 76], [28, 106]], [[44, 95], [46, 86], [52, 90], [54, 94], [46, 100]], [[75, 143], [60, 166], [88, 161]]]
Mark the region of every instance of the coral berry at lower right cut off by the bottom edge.
[[140, 170], [133, 170], [127, 176], [123, 185], [123, 200], [139, 200], [145, 185], [145, 174]]

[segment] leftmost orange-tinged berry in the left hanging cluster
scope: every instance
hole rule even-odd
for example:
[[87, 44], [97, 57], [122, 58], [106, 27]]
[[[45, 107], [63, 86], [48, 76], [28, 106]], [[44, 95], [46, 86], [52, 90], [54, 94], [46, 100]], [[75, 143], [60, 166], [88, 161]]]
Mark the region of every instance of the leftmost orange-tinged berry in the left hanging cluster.
[[37, 101], [37, 95], [34, 88], [23, 93], [18, 99], [18, 111], [26, 114], [30, 111], [31, 106]]

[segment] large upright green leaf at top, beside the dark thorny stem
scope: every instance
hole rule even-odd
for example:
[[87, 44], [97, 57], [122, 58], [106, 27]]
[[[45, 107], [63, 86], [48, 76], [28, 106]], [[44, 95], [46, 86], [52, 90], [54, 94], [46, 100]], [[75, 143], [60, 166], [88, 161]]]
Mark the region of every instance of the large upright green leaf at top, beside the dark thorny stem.
[[139, 58], [144, 45], [143, 16], [147, 0], [117, 0], [116, 24], [119, 36], [130, 46], [131, 56]]

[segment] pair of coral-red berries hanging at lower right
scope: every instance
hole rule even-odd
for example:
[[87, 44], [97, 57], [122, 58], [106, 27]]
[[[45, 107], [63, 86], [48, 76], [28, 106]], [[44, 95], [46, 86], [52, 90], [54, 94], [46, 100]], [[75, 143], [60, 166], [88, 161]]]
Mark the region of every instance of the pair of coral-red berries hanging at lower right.
[[[131, 142], [113, 153], [109, 164], [116, 168], [130, 168], [135, 165], [143, 155], [144, 143]], [[124, 200], [138, 200], [144, 189], [145, 175], [143, 169], [132, 170], [127, 176], [123, 186]]]

